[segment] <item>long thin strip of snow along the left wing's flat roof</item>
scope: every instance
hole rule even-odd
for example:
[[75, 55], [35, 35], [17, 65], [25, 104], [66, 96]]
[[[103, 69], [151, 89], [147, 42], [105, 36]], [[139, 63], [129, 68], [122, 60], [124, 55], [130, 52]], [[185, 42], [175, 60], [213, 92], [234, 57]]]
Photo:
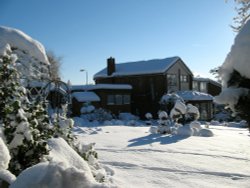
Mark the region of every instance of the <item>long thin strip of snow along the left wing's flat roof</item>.
[[132, 89], [128, 84], [96, 84], [96, 85], [72, 85], [71, 90], [97, 90], [97, 89]]

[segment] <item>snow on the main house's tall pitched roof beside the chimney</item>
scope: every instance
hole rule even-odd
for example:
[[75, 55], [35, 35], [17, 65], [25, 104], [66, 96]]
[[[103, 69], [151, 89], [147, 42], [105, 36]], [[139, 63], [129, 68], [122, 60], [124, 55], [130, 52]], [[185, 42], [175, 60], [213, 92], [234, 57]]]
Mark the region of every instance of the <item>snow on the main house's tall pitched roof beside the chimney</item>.
[[[175, 56], [165, 59], [152, 59], [147, 61], [119, 63], [115, 65], [115, 72], [111, 76], [163, 73], [179, 59], [179, 57]], [[94, 79], [107, 76], [107, 68], [104, 68], [94, 75]]]

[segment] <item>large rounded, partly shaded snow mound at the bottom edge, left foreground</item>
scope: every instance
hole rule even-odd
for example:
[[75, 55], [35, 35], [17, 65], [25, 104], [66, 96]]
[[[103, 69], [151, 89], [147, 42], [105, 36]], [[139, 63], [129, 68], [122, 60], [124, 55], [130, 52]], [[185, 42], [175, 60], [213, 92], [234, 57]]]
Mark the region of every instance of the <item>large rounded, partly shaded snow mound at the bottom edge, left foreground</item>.
[[44, 162], [24, 170], [10, 188], [107, 187], [93, 182], [91, 176], [76, 167], [69, 167], [64, 162]]

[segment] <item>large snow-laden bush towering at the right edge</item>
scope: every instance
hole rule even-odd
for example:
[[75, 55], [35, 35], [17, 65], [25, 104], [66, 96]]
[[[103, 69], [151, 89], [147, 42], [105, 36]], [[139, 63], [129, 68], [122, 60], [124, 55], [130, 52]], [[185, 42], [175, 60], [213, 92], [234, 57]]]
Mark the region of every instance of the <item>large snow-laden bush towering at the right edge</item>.
[[233, 115], [238, 114], [248, 121], [250, 128], [250, 20], [235, 38], [231, 51], [219, 70], [222, 92], [215, 102], [226, 104]]

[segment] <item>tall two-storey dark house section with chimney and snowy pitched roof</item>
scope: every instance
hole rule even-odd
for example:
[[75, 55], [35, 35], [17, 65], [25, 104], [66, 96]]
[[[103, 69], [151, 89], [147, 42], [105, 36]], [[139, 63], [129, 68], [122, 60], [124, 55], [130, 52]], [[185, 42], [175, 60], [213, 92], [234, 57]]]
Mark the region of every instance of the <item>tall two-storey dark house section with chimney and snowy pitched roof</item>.
[[94, 75], [96, 84], [129, 84], [132, 86], [132, 113], [144, 117], [156, 114], [165, 93], [192, 89], [193, 74], [180, 57], [115, 63], [107, 59], [107, 67]]

